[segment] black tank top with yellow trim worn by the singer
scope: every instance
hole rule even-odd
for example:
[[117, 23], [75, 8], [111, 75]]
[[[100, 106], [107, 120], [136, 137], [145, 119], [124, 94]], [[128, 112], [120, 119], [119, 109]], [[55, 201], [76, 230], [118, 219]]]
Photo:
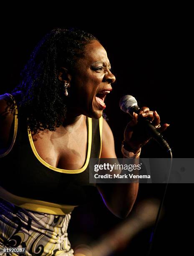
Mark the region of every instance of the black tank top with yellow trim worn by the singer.
[[47, 164], [33, 144], [27, 120], [17, 108], [19, 93], [9, 95], [15, 105], [10, 148], [0, 155], [0, 197], [20, 207], [63, 215], [85, 203], [95, 184], [89, 183], [89, 161], [101, 154], [102, 117], [87, 117], [87, 153], [81, 169], [64, 170]]

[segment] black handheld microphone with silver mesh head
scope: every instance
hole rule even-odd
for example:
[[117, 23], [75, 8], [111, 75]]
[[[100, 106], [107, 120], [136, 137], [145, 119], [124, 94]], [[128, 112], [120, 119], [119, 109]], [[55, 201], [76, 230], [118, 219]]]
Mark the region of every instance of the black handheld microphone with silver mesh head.
[[[128, 113], [133, 117], [133, 113], [139, 114], [140, 108], [137, 105], [136, 99], [131, 95], [124, 95], [121, 97], [119, 106], [121, 110]], [[148, 118], [143, 118], [139, 116], [139, 122], [142, 123], [144, 129], [149, 133], [149, 135], [154, 138], [167, 152], [171, 151], [169, 144], [164, 140], [163, 136], [159, 131], [156, 130], [156, 127], [151, 124]]]

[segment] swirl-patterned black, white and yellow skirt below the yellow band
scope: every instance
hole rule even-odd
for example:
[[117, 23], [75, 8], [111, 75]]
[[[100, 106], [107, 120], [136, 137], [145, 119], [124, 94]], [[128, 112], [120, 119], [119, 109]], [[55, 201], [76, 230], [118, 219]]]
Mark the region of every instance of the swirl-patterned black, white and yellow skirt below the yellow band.
[[[71, 213], [52, 215], [26, 210], [0, 198], [0, 256], [73, 256], [67, 228]], [[5, 253], [3, 248], [26, 248]]]

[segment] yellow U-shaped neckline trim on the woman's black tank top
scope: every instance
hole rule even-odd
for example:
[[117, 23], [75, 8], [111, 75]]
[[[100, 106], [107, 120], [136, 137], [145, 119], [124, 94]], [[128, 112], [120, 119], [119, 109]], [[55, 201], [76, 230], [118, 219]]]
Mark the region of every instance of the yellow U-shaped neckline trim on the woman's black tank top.
[[86, 170], [89, 160], [90, 160], [90, 155], [91, 155], [91, 145], [92, 145], [92, 119], [88, 118], [88, 141], [87, 141], [87, 145], [88, 145], [88, 149], [87, 149], [87, 156], [86, 156], [86, 161], [85, 164], [81, 167], [81, 169], [77, 169], [77, 170], [66, 170], [66, 169], [60, 169], [57, 168], [55, 166], [52, 166], [50, 164], [48, 164], [47, 162], [45, 162], [38, 154], [38, 152], [35, 149], [34, 143], [33, 143], [33, 138], [32, 138], [32, 134], [30, 129], [28, 128], [28, 137], [29, 137], [29, 141], [30, 141], [30, 146], [33, 150], [33, 153], [35, 154], [36, 158], [46, 167], [48, 167], [49, 169], [52, 169], [53, 171], [56, 172], [61, 172], [61, 173], [69, 173], [69, 174], [77, 174], [77, 173], [81, 173], [83, 171]]

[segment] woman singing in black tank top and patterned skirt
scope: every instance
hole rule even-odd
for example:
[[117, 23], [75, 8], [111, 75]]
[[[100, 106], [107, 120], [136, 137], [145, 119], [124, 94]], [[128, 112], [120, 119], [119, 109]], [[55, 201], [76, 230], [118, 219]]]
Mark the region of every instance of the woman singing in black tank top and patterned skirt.
[[[114, 215], [125, 218], [130, 212], [137, 183], [95, 185], [88, 177], [90, 158], [116, 158], [113, 134], [102, 117], [113, 82], [106, 50], [94, 36], [54, 29], [34, 49], [20, 84], [0, 96], [2, 250], [73, 255], [67, 236], [71, 212], [93, 189]], [[159, 125], [156, 112], [144, 107], [142, 113]], [[137, 118], [134, 114], [124, 133], [132, 158], [149, 140]]]

